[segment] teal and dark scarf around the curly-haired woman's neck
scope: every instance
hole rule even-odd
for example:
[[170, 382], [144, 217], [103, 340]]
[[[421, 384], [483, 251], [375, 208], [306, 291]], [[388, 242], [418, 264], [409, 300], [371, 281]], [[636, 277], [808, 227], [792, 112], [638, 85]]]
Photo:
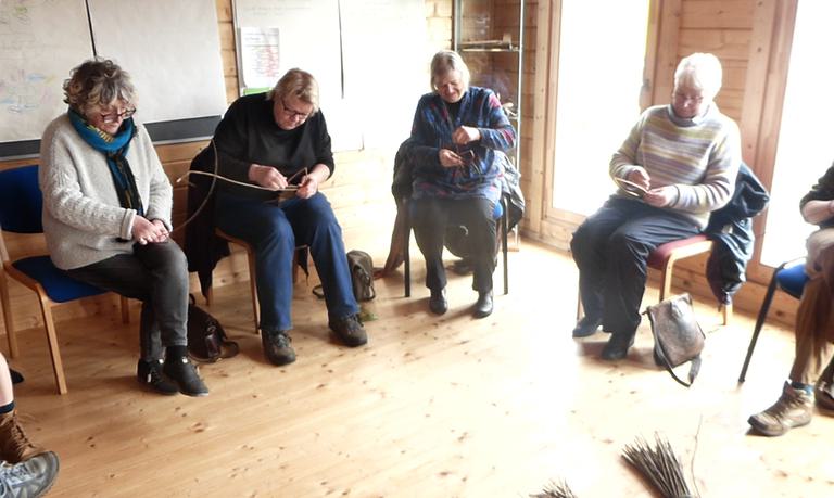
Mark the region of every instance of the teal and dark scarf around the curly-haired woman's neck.
[[68, 114], [73, 127], [84, 141], [106, 157], [110, 175], [113, 177], [113, 184], [116, 188], [122, 207], [136, 209], [139, 216], [144, 216], [142, 199], [136, 188], [134, 171], [127, 162], [127, 149], [130, 146], [130, 140], [136, 136], [134, 118], [125, 119], [118, 132], [111, 136], [88, 124], [80, 114], [72, 108]]

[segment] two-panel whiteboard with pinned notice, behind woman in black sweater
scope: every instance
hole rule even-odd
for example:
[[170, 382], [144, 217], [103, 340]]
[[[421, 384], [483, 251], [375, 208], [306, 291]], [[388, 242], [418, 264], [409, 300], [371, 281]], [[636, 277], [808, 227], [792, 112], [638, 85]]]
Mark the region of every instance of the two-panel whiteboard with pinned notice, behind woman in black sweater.
[[235, 0], [235, 26], [241, 90], [311, 72], [334, 151], [408, 137], [428, 91], [424, 0]]

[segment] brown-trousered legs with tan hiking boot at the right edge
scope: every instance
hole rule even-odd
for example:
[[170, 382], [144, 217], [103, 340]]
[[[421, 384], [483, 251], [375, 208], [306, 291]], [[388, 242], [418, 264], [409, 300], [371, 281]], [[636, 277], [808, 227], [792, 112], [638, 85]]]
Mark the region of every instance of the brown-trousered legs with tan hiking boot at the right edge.
[[[791, 376], [776, 403], [748, 419], [750, 426], [766, 436], [781, 436], [810, 423], [814, 387], [818, 405], [834, 409], [830, 384], [834, 368], [834, 246], [823, 251], [816, 263], [821, 271], [805, 284], [796, 311], [796, 356]], [[826, 375], [821, 375], [823, 370]]]

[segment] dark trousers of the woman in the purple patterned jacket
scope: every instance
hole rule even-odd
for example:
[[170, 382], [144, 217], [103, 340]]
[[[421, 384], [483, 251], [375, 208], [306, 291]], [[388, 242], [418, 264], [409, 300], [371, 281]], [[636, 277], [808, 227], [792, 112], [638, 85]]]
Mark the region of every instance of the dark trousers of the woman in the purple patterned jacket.
[[463, 225], [468, 230], [472, 247], [472, 289], [492, 291], [495, 271], [495, 205], [488, 199], [424, 197], [412, 201], [410, 215], [414, 237], [426, 259], [426, 286], [440, 290], [446, 286], [443, 268], [443, 238], [448, 225]]

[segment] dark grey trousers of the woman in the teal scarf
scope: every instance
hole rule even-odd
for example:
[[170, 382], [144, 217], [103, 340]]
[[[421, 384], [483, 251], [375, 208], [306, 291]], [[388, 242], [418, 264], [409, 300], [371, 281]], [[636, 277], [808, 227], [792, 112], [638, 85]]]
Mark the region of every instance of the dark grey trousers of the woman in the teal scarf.
[[66, 271], [97, 288], [142, 302], [139, 322], [141, 357], [161, 359], [163, 346], [188, 343], [188, 263], [176, 242], [134, 244], [132, 254]]

